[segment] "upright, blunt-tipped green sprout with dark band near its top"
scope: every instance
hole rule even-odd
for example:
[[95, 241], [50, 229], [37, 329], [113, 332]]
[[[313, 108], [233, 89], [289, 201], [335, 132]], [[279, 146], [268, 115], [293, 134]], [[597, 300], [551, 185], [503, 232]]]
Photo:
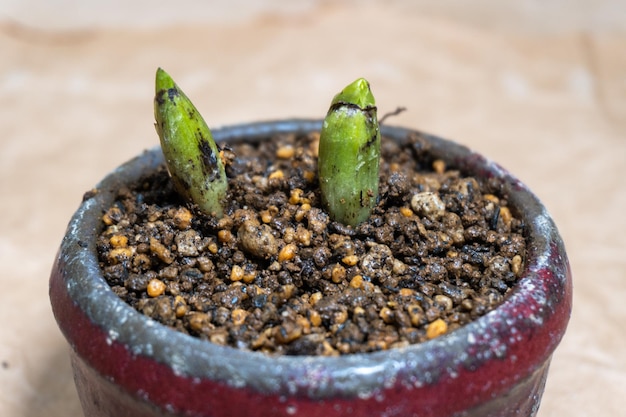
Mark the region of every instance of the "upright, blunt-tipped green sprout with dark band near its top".
[[356, 226], [378, 200], [380, 130], [369, 83], [359, 78], [331, 102], [320, 134], [322, 203], [334, 221]]

